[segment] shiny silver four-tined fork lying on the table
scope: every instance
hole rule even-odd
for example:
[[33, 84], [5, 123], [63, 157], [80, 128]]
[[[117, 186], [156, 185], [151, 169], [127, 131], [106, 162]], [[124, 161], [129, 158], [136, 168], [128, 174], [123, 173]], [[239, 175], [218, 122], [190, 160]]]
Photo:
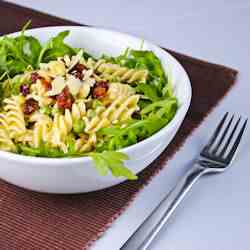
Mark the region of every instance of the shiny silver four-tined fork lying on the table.
[[[239, 118], [232, 127], [234, 115], [227, 122], [228, 113], [224, 115], [208, 144], [202, 149], [192, 168], [182, 177], [172, 191], [162, 200], [152, 214], [128, 239], [120, 250], [147, 250], [159, 231], [169, 220], [175, 208], [183, 200], [193, 184], [203, 175], [220, 173], [231, 165], [247, 126], [247, 119], [241, 129]], [[236, 134], [236, 131], [239, 132]]]

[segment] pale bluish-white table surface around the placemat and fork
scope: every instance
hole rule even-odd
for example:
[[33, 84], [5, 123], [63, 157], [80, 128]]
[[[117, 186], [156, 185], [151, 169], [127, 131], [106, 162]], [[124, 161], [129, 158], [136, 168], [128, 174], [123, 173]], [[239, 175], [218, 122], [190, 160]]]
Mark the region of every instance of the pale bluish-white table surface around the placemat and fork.
[[[240, 71], [237, 86], [92, 248], [117, 250], [188, 168], [188, 162], [222, 114], [232, 111], [250, 117], [250, 0], [11, 2], [81, 23], [128, 32]], [[249, 136], [250, 130], [234, 167], [224, 174], [203, 178], [151, 250], [250, 249]]]

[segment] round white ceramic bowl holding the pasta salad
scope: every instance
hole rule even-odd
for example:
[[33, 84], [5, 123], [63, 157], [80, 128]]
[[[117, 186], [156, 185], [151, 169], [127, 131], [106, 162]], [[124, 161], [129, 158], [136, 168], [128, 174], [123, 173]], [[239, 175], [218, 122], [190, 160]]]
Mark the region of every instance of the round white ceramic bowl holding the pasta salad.
[[[28, 30], [27, 34], [47, 41], [60, 31], [70, 30], [67, 42], [85, 48], [95, 56], [116, 56], [127, 47], [139, 49], [142, 39], [105, 29], [87, 27], [46, 27]], [[12, 34], [16, 36], [18, 33]], [[148, 41], [143, 49], [153, 51], [167, 72], [171, 69], [179, 109], [174, 119], [150, 138], [121, 150], [130, 160], [126, 166], [134, 173], [147, 167], [167, 147], [179, 129], [190, 105], [191, 84], [183, 67], [166, 51]], [[111, 174], [99, 176], [89, 157], [39, 158], [0, 151], [0, 178], [17, 186], [47, 193], [82, 193], [116, 185], [123, 178]]]

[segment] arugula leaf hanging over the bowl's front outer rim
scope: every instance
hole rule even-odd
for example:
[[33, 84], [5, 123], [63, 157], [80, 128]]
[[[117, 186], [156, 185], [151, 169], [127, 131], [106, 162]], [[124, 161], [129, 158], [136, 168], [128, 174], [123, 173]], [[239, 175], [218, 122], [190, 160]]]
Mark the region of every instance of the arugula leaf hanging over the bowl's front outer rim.
[[88, 154], [93, 161], [97, 171], [101, 175], [107, 175], [110, 170], [116, 177], [126, 177], [129, 180], [136, 180], [137, 176], [125, 167], [124, 161], [128, 156], [116, 151], [103, 151], [102, 153], [91, 152]]

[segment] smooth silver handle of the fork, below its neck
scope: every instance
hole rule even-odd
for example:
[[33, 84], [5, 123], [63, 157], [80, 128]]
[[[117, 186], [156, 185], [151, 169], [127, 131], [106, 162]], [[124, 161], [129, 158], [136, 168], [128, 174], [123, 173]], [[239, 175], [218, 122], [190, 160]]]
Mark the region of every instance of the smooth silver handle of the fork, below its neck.
[[193, 184], [205, 173], [206, 168], [194, 164], [120, 250], [147, 250]]

